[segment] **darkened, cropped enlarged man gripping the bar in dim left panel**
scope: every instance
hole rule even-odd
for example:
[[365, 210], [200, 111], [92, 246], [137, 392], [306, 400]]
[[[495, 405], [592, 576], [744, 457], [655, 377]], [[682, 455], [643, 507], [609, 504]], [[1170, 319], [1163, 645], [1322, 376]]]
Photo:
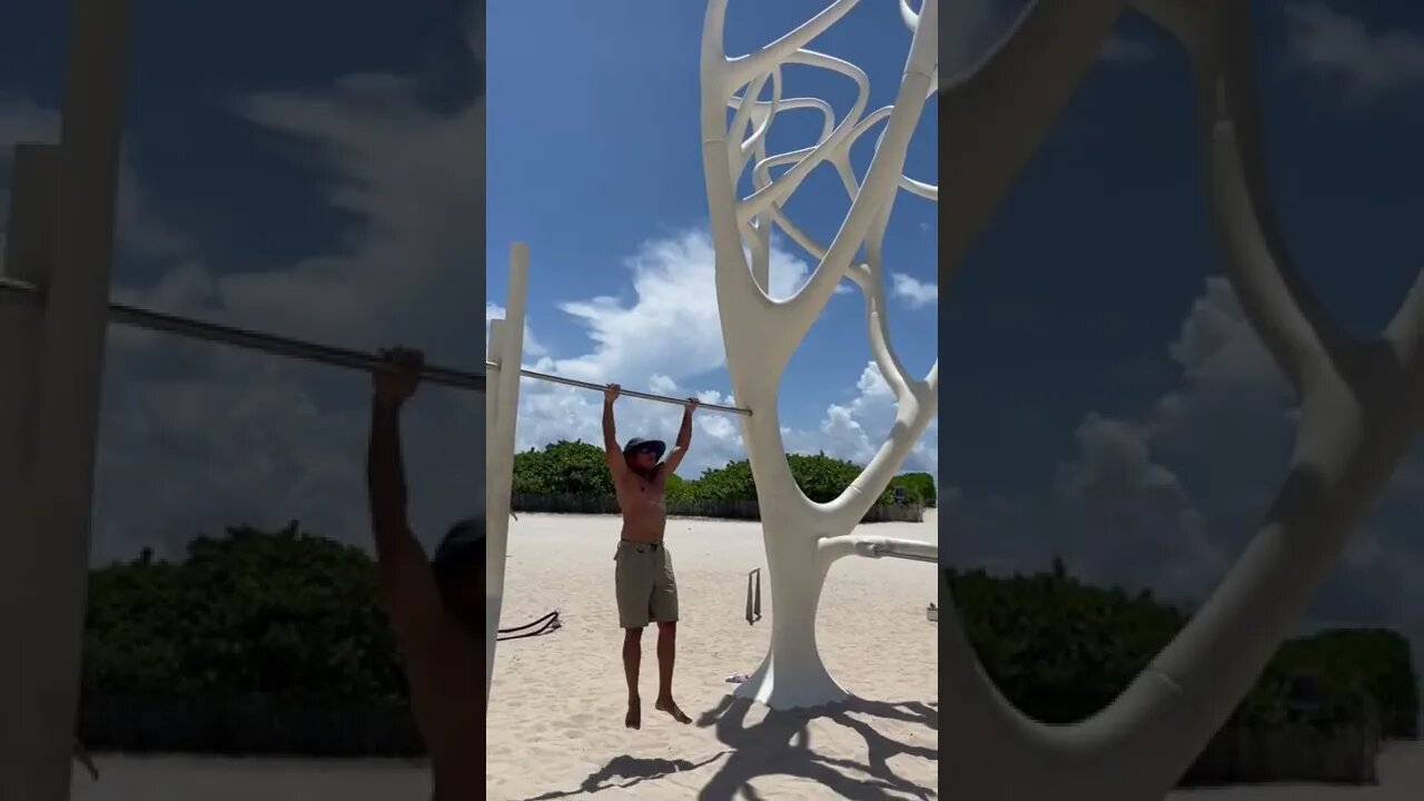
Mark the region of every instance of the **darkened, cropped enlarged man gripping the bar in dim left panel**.
[[430, 754], [433, 797], [466, 801], [484, 797], [484, 519], [456, 523], [433, 560], [410, 532], [400, 409], [422, 366], [416, 351], [380, 352], [366, 480], [382, 600]]

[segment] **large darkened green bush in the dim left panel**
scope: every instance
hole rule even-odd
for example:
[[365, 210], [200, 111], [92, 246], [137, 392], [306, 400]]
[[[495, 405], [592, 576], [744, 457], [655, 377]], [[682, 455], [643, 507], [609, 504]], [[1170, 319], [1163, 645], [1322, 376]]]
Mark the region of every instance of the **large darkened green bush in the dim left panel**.
[[372, 559], [303, 533], [229, 529], [181, 563], [90, 576], [85, 690], [404, 697]]

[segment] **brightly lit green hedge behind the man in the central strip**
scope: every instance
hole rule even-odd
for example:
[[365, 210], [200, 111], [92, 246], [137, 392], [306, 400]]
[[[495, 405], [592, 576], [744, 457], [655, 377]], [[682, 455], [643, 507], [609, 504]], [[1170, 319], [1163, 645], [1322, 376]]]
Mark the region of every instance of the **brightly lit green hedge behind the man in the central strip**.
[[[862, 466], [824, 453], [792, 453], [792, 475], [802, 492], [816, 502], [833, 500], [860, 475]], [[928, 473], [896, 476], [877, 503], [894, 503], [894, 489], [904, 490], [907, 503], [936, 505], [934, 477]], [[604, 463], [604, 449], [587, 442], [561, 440], [543, 450], [514, 455], [514, 495], [612, 497], [614, 487]], [[703, 470], [696, 479], [674, 476], [668, 482], [668, 500], [722, 502], [756, 500], [752, 466], [742, 459], [722, 467]]]

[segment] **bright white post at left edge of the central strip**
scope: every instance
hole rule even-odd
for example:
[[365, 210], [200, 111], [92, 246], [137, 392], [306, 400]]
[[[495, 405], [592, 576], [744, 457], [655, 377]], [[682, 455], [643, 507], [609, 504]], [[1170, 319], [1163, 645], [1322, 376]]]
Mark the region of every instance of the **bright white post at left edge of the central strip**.
[[[494, 680], [494, 648], [498, 643], [500, 609], [504, 606], [504, 559], [510, 542], [510, 495], [514, 489], [514, 435], [520, 408], [520, 373], [524, 362], [524, 304], [528, 295], [530, 249], [524, 242], [510, 248], [510, 286], [504, 319], [491, 321], [490, 355], [500, 366], [493, 398], [494, 410], [486, 410], [486, 621], [484, 621], [484, 697]], [[493, 415], [493, 420], [491, 420]]]

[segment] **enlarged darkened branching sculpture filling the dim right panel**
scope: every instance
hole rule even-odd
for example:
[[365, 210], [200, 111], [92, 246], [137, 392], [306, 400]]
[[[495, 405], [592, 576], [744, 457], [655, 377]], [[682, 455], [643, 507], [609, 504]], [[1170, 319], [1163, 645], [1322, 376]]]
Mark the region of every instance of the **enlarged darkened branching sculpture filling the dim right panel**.
[[[1260, 530], [1186, 629], [1112, 704], [1072, 725], [1015, 710], [943, 604], [940, 734], [954, 798], [1162, 798], [1260, 676], [1411, 449], [1424, 416], [1424, 279], [1376, 338], [1331, 324], [1272, 221], [1257, 124], [1250, 3], [1077, 0], [1031, 6], [940, 95], [940, 285], [1134, 7], [1183, 47], [1196, 78], [1205, 185], [1242, 308], [1297, 392], [1297, 440]], [[1169, 244], [1166, 244], [1169, 247]], [[943, 580], [943, 576], [941, 576]], [[941, 596], [948, 599], [948, 586]]]

